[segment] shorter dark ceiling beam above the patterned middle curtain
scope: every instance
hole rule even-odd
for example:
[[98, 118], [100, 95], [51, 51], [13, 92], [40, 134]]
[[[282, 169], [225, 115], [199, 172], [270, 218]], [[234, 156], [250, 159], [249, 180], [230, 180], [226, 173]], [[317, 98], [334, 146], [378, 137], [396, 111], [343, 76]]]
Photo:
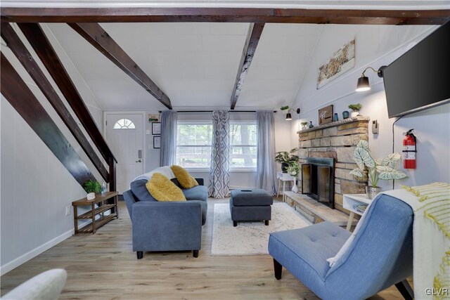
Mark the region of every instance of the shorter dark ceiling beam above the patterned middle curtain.
[[243, 82], [247, 76], [248, 69], [252, 63], [253, 56], [255, 56], [256, 47], [258, 46], [259, 38], [261, 37], [262, 30], [264, 29], [264, 23], [250, 24], [247, 33], [247, 39], [245, 39], [245, 45], [240, 57], [240, 64], [238, 68], [238, 74], [236, 75], [236, 82], [234, 84], [233, 93], [231, 94], [231, 109], [234, 110], [240, 91], [242, 91]]

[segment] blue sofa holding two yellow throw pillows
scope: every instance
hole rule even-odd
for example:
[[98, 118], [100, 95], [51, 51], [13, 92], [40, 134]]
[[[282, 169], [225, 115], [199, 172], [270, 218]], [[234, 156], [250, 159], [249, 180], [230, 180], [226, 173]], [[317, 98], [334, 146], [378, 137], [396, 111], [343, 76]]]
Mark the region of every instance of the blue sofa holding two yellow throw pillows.
[[[124, 192], [133, 225], [133, 251], [142, 259], [143, 252], [193, 250], [198, 257], [202, 244], [202, 226], [207, 217], [207, 188], [199, 185], [182, 189], [187, 201], [158, 202], [148, 193], [146, 179], [131, 183]], [[178, 184], [176, 179], [172, 179]]]

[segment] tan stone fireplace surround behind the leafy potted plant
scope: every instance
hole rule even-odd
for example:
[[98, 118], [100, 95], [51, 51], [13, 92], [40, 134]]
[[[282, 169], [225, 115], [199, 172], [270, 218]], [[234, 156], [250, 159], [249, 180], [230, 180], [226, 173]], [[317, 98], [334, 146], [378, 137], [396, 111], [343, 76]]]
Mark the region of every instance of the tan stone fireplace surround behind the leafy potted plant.
[[[326, 162], [330, 167], [330, 162], [334, 164], [333, 169], [323, 168], [319, 166], [319, 171], [313, 169], [300, 172], [302, 178], [300, 179], [299, 187], [309, 188], [307, 195], [314, 194], [316, 187], [312, 186], [311, 176], [322, 177], [322, 182], [326, 176], [333, 176], [330, 184], [325, 185], [322, 189], [316, 190], [316, 194], [312, 197], [319, 199], [319, 202], [326, 204], [328, 207], [344, 211], [347, 214], [349, 211], [342, 207], [343, 194], [360, 194], [365, 193], [364, 187], [366, 182], [359, 182], [349, 174], [349, 171], [356, 168], [353, 160], [353, 152], [356, 145], [361, 140], [368, 141], [368, 117], [354, 117], [344, 119], [338, 122], [332, 122], [315, 126], [310, 129], [298, 131], [299, 135], [299, 157], [300, 164], [309, 165], [311, 159], [319, 159], [319, 164]], [[326, 158], [325, 160], [320, 160]], [[307, 168], [307, 167], [305, 167]], [[328, 171], [327, 171], [328, 170]], [[334, 181], [334, 182], [333, 182]], [[308, 186], [309, 185], [309, 186]], [[311, 188], [313, 189], [311, 193]], [[300, 189], [301, 192], [301, 189]], [[333, 201], [326, 202], [327, 194], [329, 192]]]

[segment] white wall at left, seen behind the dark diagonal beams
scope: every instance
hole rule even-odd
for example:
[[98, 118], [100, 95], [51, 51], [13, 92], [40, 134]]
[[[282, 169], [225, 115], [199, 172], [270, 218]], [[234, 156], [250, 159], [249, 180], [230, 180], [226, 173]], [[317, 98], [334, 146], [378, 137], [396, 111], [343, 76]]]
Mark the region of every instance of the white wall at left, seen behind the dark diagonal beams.
[[[44, 30], [46, 30], [45, 26]], [[19, 33], [19, 35], [23, 37], [22, 34]], [[86, 99], [87, 107], [96, 124], [101, 128], [103, 123], [101, 107], [96, 103], [94, 96], [70, 60], [65, 56], [62, 48], [58, 46], [51, 34], [48, 34], [47, 37], [53, 43], [60, 60], [67, 68], [82, 98]], [[26, 41], [25, 44], [29, 46]], [[98, 181], [101, 181], [101, 176], [94, 168], [94, 165], [13, 53], [3, 46], [1, 51], [15, 67], [34, 95], [37, 96], [41, 105], [44, 106], [53, 122], [63, 132], [70, 145], [77, 151], [79, 157], [82, 158]], [[37, 56], [34, 56], [34, 58], [37, 59]], [[55, 87], [60, 98], [66, 103], [66, 107], [68, 107], [67, 102], [59, 89], [56, 88], [45, 68], [41, 63], [39, 65], [53, 84], [53, 87]], [[54, 244], [70, 237], [73, 233], [71, 203], [74, 200], [85, 197], [86, 193], [3, 96], [1, 97], [0, 106], [0, 273], [3, 275], [25, 261], [32, 259], [37, 254], [49, 249]], [[75, 116], [74, 118], [77, 120]], [[85, 131], [84, 133], [87, 137]], [[96, 149], [94, 145], [93, 148]], [[101, 157], [99, 154], [98, 156]], [[69, 216], [65, 216], [66, 206], [70, 206], [71, 209]]]

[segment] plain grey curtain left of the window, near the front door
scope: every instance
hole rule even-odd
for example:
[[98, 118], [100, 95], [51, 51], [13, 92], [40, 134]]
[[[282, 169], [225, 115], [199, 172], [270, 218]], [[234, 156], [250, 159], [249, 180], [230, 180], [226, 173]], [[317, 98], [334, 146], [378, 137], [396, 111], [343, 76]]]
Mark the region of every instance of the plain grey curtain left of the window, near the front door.
[[161, 113], [161, 154], [160, 167], [175, 164], [176, 152], [176, 112], [165, 110]]

